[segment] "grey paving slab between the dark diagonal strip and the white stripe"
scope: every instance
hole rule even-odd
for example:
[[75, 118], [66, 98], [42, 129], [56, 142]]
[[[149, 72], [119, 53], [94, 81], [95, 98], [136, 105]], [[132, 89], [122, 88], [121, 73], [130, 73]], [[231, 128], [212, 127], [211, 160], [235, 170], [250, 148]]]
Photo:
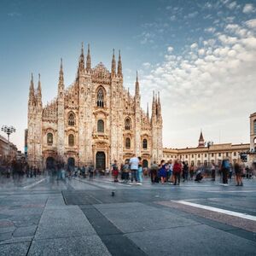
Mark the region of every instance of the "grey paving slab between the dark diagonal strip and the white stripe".
[[138, 206], [137, 203], [134, 207], [132, 204], [129, 204], [129, 207], [119, 207], [118, 204], [111, 208], [103, 208], [99, 205], [95, 205], [95, 207], [124, 233], [199, 224], [194, 220], [179, 217], [172, 212], [159, 211], [155, 207], [148, 207], [143, 204]]

